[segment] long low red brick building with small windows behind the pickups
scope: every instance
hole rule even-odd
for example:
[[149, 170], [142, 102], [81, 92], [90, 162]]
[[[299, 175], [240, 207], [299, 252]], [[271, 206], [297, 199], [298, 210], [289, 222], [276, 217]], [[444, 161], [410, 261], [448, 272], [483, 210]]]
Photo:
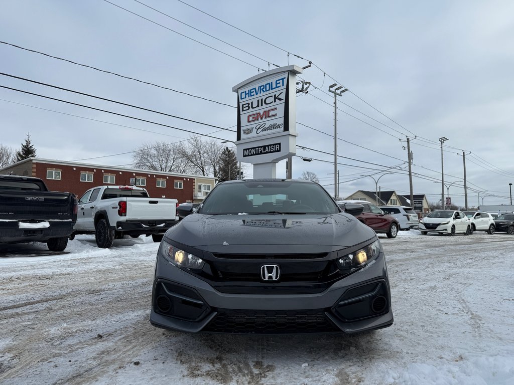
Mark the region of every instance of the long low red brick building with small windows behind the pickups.
[[203, 201], [216, 184], [212, 177], [40, 158], [16, 162], [0, 169], [0, 174], [41, 178], [49, 190], [69, 191], [78, 197], [95, 186], [135, 184], [148, 190], [150, 197], [177, 199], [179, 203]]

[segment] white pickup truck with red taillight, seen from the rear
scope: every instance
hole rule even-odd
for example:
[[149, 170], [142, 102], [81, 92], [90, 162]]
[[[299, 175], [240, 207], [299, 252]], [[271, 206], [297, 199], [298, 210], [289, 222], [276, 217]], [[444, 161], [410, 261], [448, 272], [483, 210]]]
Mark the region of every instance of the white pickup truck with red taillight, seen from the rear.
[[113, 240], [144, 234], [160, 242], [166, 230], [178, 223], [176, 199], [150, 198], [136, 186], [98, 186], [79, 199], [75, 231], [70, 235], [95, 234], [98, 247], [108, 248]]

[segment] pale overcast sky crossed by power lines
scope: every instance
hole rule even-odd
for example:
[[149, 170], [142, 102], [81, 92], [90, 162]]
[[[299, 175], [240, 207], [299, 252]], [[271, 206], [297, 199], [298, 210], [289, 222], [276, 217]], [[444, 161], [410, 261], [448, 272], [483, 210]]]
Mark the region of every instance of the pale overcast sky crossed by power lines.
[[[300, 75], [312, 85], [297, 97], [293, 178], [312, 171], [334, 191], [334, 97], [328, 86], [338, 83], [349, 90], [338, 98], [338, 155], [350, 158], [338, 162], [341, 196], [375, 190], [375, 181], [361, 176], [376, 180], [388, 169], [397, 173], [381, 177], [380, 189], [409, 194], [403, 148], [409, 137], [414, 194], [438, 201], [438, 139], [446, 137], [444, 179], [452, 202], [464, 205], [464, 150], [473, 189], [468, 204], [479, 203], [476, 191], [483, 191], [486, 205], [510, 203], [514, 2], [112, 3], [126, 10], [103, 0], [3, 0], [0, 40], [172, 90], [4, 43], [0, 72], [234, 131], [5, 75], [0, 85], [235, 141], [232, 87], [274, 65], [311, 61]], [[5, 88], [0, 99], [0, 143], [18, 149], [30, 132], [40, 158], [128, 167], [130, 151], [139, 145], [191, 135]], [[245, 174], [251, 176], [251, 166]], [[285, 161], [278, 163], [277, 177], [285, 177]]]

